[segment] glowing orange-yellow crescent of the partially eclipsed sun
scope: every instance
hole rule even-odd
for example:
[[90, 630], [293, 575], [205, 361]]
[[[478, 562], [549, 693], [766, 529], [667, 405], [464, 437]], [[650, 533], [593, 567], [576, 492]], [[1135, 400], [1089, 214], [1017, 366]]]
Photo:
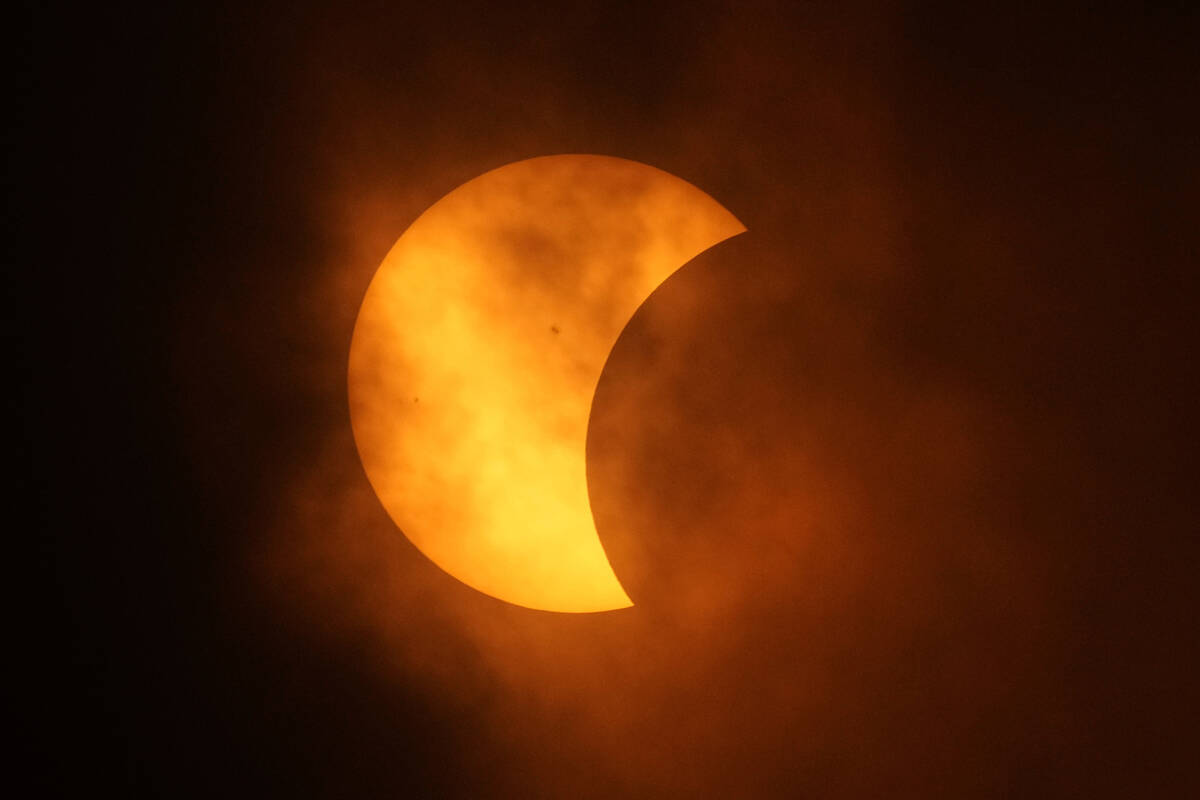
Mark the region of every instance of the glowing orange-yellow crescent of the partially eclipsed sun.
[[744, 230], [686, 181], [592, 155], [500, 167], [425, 211], [367, 288], [348, 369], [367, 479], [413, 545], [518, 606], [631, 606], [588, 501], [592, 398], [646, 297]]

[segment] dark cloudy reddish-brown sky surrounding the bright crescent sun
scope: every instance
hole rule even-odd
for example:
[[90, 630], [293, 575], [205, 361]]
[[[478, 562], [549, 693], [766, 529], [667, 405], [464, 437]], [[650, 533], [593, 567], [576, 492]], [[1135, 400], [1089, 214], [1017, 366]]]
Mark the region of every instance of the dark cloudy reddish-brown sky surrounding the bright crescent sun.
[[[974, 5], [24, 14], [10, 658], [47, 793], [1195, 793], [1196, 14]], [[601, 379], [612, 614], [439, 572], [347, 417], [391, 242], [558, 152], [749, 229]]]

